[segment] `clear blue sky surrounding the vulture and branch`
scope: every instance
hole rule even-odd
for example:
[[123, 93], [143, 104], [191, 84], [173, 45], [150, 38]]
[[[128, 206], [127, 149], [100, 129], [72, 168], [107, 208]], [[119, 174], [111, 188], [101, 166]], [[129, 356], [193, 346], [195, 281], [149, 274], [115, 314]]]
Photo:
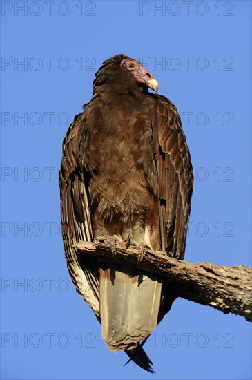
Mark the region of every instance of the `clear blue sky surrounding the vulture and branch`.
[[183, 299], [146, 343], [156, 374], [123, 367], [70, 283], [57, 180], [95, 71], [139, 59], [191, 150], [186, 260], [250, 267], [250, 17], [250, 1], [1, 1], [2, 379], [251, 379], [251, 325]]

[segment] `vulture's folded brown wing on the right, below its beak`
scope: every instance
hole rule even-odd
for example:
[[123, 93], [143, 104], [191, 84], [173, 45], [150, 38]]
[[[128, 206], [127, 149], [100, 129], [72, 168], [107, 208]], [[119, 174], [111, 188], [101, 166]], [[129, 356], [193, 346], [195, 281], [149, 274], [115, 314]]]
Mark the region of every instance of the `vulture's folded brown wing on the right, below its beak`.
[[160, 232], [164, 236], [164, 250], [182, 260], [193, 192], [193, 169], [177, 109], [166, 97], [156, 96]]

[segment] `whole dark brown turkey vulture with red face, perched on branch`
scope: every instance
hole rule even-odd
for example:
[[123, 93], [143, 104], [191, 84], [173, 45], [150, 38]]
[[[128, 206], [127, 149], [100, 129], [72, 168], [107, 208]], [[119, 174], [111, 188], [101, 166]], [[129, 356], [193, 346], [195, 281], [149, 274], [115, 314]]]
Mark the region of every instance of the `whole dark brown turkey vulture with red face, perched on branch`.
[[[148, 88], [154, 93], [148, 93]], [[76, 254], [79, 240], [109, 238], [183, 260], [193, 191], [190, 153], [175, 106], [135, 59], [115, 55], [95, 74], [93, 96], [63, 142], [61, 223], [68, 270], [101, 323], [109, 350], [149, 372], [142, 348], [170, 310], [168, 280]], [[148, 286], [142, 286], [144, 283]]]

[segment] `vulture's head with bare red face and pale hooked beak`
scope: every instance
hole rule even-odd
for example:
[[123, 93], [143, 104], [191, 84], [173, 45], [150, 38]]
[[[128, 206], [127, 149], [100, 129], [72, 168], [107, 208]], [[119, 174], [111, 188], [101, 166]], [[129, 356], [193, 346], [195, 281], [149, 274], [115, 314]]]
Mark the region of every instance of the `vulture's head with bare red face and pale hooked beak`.
[[93, 82], [93, 97], [101, 93], [131, 93], [135, 97], [158, 90], [158, 82], [136, 59], [118, 54], [104, 61]]

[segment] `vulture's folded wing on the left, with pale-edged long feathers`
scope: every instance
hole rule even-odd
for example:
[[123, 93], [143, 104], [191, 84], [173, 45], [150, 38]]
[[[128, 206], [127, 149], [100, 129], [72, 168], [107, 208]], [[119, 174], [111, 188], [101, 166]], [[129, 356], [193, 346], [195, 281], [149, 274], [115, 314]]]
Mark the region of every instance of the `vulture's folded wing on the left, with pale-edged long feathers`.
[[88, 178], [78, 164], [79, 149], [84, 140], [84, 113], [75, 117], [63, 143], [63, 157], [59, 171], [61, 189], [61, 225], [68, 270], [72, 282], [84, 300], [92, 307], [99, 320], [99, 274], [95, 258], [75, 253], [73, 245], [79, 240], [92, 241]]

